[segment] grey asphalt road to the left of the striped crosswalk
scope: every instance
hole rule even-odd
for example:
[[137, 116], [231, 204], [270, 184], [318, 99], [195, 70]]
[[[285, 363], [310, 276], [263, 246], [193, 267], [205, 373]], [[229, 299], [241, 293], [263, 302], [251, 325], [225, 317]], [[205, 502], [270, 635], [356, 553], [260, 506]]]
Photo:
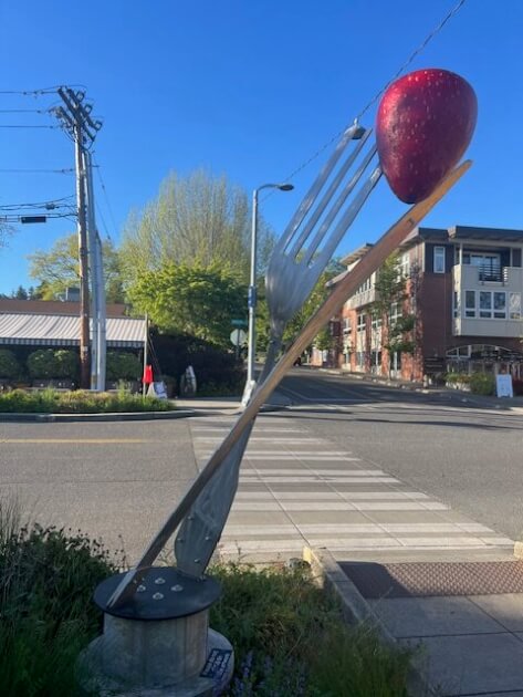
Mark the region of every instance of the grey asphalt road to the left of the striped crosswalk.
[[0, 423], [0, 495], [134, 561], [196, 475], [187, 419]]

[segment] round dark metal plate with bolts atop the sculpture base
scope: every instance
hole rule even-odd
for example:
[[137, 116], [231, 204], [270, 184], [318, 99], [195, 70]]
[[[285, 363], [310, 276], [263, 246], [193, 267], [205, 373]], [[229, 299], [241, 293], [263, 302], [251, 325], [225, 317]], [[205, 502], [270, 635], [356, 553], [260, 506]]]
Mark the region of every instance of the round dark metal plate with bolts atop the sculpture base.
[[116, 608], [107, 602], [125, 576], [118, 573], [98, 584], [94, 602], [105, 613], [127, 620], [175, 620], [199, 613], [221, 595], [215, 579], [188, 576], [172, 566], [151, 566], [132, 601]]

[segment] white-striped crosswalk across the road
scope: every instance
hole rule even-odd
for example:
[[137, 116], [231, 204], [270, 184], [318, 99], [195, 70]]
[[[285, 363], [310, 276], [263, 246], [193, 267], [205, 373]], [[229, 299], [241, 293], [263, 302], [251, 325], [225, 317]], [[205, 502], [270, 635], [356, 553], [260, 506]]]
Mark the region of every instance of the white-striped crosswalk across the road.
[[[280, 418], [276, 429], [265, 422], [251, 438], [232, 506], [234, 517], [226, 524], [218, 548], [224, 558], [249, 559], [249, 554], [258, 554], [274, 560], [301, 555], [304, 544], [326, 547], [338, 558], [352, 551], [376, 552], [379, 558], [380, 551], [386, 550], [489, 550], [513, 544], [474, 521], [446, 520], [443, 514], [450, 507], [442, 501], [412, 491], [388, 472], [369, 468], [370, 462], [354, 457], [349, 449], [336, 448], [325, 438], [310, 437], [310, 431], [303, 429], [303, 436], [294, 436], [296, 431], [287, 429], [287, 424], [291, 425]], [[195, 454], [199, 458], [211, 455], [227, 425], [223, 429], [193, 429]], [[265, 523], [251, 516], [257, 511], [268, 513]], [[283, 513], [286, 519], [275, 523], [271, 512]], [[314, 514], [310, 523], [294, 522], [306, 520], [307, 513], [311, 518]], [[325, 522], [322, 513], [330, 516]]]

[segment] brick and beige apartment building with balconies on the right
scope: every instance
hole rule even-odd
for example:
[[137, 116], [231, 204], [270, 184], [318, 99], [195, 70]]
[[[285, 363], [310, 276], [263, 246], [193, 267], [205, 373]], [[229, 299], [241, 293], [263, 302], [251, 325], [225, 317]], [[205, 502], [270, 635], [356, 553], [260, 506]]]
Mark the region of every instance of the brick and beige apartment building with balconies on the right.
[[[342, 262], [348, 272], [366, 245]], [[523, 375], [523, 230], [419, 227], [398, 249], [405, 297], [388, 325], [410, 315], [412, 348], [386, 348], [376, 314], [376, 273], [348, 298], [332, 360], [362, 373], [421, 381], [450, 370]], [[335, 282], [335, 281], [334, 281]]]

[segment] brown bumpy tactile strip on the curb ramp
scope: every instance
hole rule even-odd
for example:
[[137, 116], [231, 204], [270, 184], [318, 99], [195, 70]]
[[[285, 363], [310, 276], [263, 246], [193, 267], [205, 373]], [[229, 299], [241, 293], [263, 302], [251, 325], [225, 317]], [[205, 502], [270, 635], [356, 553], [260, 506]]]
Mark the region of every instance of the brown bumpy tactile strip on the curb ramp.
[[523, 561], [341, 562], [364, 597], [523, 593]]

